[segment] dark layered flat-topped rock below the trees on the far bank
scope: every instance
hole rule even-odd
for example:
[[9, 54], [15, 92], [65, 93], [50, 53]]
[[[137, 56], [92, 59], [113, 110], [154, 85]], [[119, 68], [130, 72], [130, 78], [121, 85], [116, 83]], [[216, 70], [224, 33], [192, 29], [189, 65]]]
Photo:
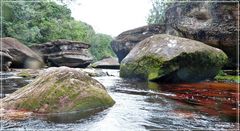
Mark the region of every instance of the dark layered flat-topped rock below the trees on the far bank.
[[57, 40], [31, 48], [38, 52], [49, 66], [87, 67], [93, 60], [90, 45], [69, 40]]

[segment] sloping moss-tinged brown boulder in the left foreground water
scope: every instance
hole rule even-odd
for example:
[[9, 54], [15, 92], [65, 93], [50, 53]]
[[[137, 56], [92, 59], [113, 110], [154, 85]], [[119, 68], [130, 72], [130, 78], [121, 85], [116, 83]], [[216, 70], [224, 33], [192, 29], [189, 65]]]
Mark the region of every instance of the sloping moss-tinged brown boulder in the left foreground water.
[[106, 108], [115, 102], [104, 86], [79, 69], [52, 67], [32, 83], [2, 99], [6, 110], [37, 113], [85, 111]]

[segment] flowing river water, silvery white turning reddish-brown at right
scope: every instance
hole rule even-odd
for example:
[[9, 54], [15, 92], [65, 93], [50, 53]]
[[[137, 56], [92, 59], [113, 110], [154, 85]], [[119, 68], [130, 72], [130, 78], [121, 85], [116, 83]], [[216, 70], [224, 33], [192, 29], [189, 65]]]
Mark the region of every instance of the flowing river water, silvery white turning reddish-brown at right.
[[128, 131], [237, 129], [237, 84], [156, 84], [122, 79], [119, 70], [95, 77], [115, 105], [101, 112], [1, 121], [4, 129]]

